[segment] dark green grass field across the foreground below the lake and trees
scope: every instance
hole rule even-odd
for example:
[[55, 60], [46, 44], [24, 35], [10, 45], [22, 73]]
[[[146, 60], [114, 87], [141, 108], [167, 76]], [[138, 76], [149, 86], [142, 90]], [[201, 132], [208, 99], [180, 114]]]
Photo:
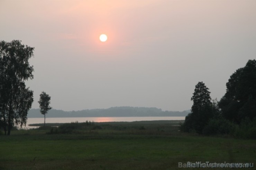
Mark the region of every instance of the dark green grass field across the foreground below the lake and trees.
[[172, 120], [95, 123], [67, 134], [49, 134], [51, 127], [15, 130], [0, 136], [0, 170], [173, 170], [187, 161], [256, 163], [255, 140], [186, 134], [177, 125]]

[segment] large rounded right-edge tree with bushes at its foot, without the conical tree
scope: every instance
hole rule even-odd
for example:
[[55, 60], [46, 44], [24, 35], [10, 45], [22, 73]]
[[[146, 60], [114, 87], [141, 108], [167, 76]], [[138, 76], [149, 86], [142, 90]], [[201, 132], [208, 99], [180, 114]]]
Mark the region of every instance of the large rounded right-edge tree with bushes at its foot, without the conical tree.
[[249, 60], [245, 67], [236, 70], [226, 86], [226, 94], [218, 103], [221, 116], [211, 119], [203, 134], [256, 139], [256, 60]]

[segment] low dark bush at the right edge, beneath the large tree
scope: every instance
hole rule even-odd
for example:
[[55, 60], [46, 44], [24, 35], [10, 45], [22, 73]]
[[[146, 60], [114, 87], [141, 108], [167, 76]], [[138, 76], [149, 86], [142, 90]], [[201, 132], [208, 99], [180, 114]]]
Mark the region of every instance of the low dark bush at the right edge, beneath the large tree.
[[256, 118], [250, 120], [248, 117], [241, 121], [234, 133], [236, 138], [256, 139]]

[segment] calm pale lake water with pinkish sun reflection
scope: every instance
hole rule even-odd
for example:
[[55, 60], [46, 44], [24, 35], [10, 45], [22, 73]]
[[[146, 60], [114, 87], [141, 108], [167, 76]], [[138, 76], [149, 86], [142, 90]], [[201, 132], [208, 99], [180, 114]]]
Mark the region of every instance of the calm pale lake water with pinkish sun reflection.
[[[185, 120], [185, 116], [168, 116], [168, 117], [64, 117], [64, 118], [47, 118], [45, 123], [71, 123], [71, 122], [110, 122], [110, 121], [143, 121], [143, 120]], [[31, 128], [29, 124], [44, 123], [44, 118], [28, 118], [27, 126], [25, 128]]]

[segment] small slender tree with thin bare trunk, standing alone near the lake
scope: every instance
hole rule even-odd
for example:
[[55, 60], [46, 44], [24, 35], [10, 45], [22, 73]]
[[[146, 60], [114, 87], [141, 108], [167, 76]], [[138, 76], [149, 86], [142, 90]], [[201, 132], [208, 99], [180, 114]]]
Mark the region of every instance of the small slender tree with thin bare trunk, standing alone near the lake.
[[45, 92], [42, 92], [40, 94], [40, 99], [38, 101], [39, 107], [40, 107], [40, 113], [44, 115], [44, 126], [45, 126], [45, 115], [47, 114], [48, 110], [52, 109], [52, 107], [49, 106], [51, 97], [46, 94]]

